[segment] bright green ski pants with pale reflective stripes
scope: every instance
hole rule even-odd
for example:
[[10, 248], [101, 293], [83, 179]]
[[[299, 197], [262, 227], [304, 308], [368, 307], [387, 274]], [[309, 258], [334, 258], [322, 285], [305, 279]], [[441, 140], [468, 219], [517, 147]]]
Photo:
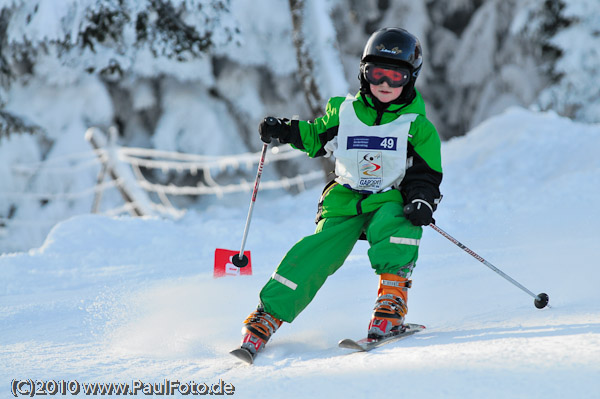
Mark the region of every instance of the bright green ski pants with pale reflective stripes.
[[422, 227], [404, 217], [402, 203], [373, 212], [322, 219], [316, 232], [298, 241], [260, 292], [265, 311], [291, 323], [313, 300], [327, 277], [344, 263], [362, 232], [376, 274], [409, 277], [418, 257]]

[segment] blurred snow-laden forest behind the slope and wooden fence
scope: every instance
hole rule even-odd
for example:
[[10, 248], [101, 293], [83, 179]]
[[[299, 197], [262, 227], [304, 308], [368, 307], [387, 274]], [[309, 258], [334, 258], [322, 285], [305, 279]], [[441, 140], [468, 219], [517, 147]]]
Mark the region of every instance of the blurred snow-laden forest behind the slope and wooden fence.
[[[264, 116], [312, 119], [356, 93], [364, 43], [386, 26], [421, 39], [417, 88], [444, 140], [511, 106], [600, 122], [597, 0], [0, 0], [0, 252], [91, 211], [101, 166], [89, 127], [113, 127], [119, 146], [258, 151]], [[328, 167], [296, 159], [266, 173]], [[100, 211], [122, 202], [104, 194]], [[208, 197], [177, 205], [248, 200]]]

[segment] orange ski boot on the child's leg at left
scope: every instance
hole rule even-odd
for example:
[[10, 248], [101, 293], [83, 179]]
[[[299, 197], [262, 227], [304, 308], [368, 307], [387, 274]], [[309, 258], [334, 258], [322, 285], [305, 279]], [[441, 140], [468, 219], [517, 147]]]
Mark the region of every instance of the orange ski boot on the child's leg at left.
[[265, 312], [262, 307], [258, 307], [244, 320], [242, 344], [231, 354], [252, 364], [256, 354], [265, 347], [271, 335], [282, 323], [278, 318]]

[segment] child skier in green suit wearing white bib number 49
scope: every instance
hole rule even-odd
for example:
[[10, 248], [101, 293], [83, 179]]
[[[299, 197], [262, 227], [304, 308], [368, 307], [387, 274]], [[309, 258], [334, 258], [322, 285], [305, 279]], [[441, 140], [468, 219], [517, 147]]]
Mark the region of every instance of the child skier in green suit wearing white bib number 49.
[[421, 226], [433, 221], [441, 199], [440, 138], [414, 88], [422, 61], [415, 36], [381, 29], [364, 48], [355, 97], [329, 99], [325, 115], [313, 122], [260, 124], [266, 143], [276, 138], [310, 157], [333, 154], [337, 177], [321, 196], [316, 232], [289, 250], [244, 321], [241, 346], [252, 357], [310, 303], [360, 238], [368, 241], [379, 275], [368, 335], [402, 330]]

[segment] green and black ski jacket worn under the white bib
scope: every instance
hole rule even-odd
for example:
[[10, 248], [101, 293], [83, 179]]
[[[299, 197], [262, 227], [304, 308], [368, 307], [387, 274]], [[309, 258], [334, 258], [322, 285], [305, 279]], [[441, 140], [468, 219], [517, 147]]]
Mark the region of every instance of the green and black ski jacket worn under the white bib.
[[[325, 115], [314, 121], [292, 120], [291, 145], [310, 157], [325, 155], [325, 145], [338, 134], [340, 106], [345, 97], [332, 97]], [[441, 143], [437, 130], [425, 116], [425, 103], [415, 89], [415, 97], [408, 104], [390, 104], [378, 109], [370, 96], [358, 93], [352, 103], [358, 119], [366, 126], [389, 123], [402, 114], [418, 114], [409, 130], [406, 174], [397, 190], [376, 194], [361, 194], [335, 181], [324, 189], [319, 203], [321, 217], [352, 216], [378, 209], [383, 203], [409, 203], [413, 199], [426, 200], [433, 209], [441, 199], [442, 181]]]

